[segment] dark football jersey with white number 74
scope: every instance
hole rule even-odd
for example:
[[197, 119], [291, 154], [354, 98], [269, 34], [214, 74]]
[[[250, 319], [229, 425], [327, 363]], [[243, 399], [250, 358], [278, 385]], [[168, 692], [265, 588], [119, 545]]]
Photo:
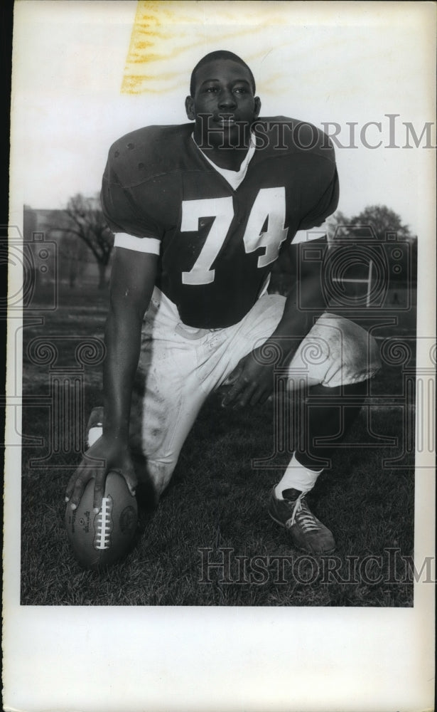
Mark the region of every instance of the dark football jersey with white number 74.
[[107, 223], [115, 233], [159, 241], [157, 286], [196, 328], [241, 320], [279, 251], [338, 204], [325, 134], [285, 117], [259, 119], [253, 130], [257, 148], [235, 190], [195, 145], [192, 123], [141, 128], [109, 150]]

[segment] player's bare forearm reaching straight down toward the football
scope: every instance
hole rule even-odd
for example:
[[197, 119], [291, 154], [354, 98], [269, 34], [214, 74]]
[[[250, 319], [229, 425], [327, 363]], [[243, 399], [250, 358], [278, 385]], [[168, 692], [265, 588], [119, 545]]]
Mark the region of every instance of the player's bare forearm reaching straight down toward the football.
[[105, 329], [107, 353], [103, 368], [104, 435], [126, 444], [129, 438], [131, 393], [141, 347], [138, 313], [109, 310]]

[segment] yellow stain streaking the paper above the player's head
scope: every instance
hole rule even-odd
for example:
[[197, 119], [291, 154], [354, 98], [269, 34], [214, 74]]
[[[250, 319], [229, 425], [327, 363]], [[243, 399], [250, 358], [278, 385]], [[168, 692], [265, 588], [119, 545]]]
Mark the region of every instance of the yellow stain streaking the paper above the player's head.
[[247, 0], [139, 0], [122, 93], [185, 90], [190, 71], [203, 55], [219, 48], [239, 53], [243, 38], [250, 47], [246, 61], [265, 55], [271, 43], [263, 43], [262, 33], [266, 26], [284, 23], [286, 14], [276, 3], [268, 13], [263, 5]]

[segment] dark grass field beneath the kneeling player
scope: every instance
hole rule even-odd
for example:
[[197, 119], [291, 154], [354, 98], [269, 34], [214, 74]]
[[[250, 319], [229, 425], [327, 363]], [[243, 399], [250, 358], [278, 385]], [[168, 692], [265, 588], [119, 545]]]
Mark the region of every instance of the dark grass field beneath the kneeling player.
[[[105, 310], [106, 295], [87, 288], [61, 291], [56, 310], [34, 310], [26, 317], [22, 604], [413, 604], [406, 557], [414, 546], [414, 452], [405, 434], [414, 423], [414, 393], [406, 389], [401, 398], [405, 368], [396, 360], [372, 382], [369, 402], [348, 436], [353, 446], [336, 451], [332, 468], [320, 476], [310, 498], [315, 513], [333, 530], [335, 556], [308, 557], [293, 550], [266, 513], [271, 486], [289, 459], [285, 452], [264, 466], [253, 463], [273, 453], [274, 405], [229, 412], [213, 395], [158, 508], [152, 511], [140, 501], [134, 550], [106, 572], [82, 570], [63, 524], [65, 484], [80, 454], [75, 443], [69, 448], [50, 431], [50, 382], [53, 387], [53, 382], [76, 379], [72, 387], [83, 396], [83, 414], [102, 403], [99, 363], [76, 373], [69, 368], [77, 344], [102, 337]], [[399, 323], [399, 334], [406, 341], [414, 336], [411, 313]], [[36, 339], [56, 345], [58, 360], [41, 343], [38, 350]], [[58, 443], [55, 451], [50, 443]]]

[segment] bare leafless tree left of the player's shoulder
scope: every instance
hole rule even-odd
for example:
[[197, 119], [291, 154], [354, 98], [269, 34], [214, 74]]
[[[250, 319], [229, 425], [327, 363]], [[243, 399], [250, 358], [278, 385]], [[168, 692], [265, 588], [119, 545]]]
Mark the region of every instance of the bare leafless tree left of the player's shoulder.
[[104, 288], [114, 235], [104, 221], [99, 197], [85, 197], [77, 193], [68, 201], [65, 215], [68, 224], [60, 230], [82, 240], [90, 248], [99, 268], [99, 289]]

